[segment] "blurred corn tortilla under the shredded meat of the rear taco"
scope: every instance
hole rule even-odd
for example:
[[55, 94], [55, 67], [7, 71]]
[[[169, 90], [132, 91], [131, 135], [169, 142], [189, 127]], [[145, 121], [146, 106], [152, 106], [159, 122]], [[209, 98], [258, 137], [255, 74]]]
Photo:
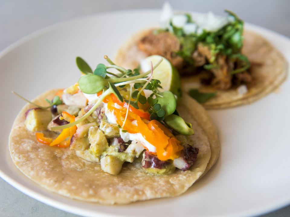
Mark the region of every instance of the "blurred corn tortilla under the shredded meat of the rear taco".
[[[140, 31], [124, 43], [118, 50], [115, 62], [128, 68], [135, 68], [141, 59], [147, 55], [140, 51], [137, 42], [150, 30]], [[211, 86], [204, 86], [199, 82], [199, 76], [182, 78], [182, 90], [186, 94], [192, 88], [201, 92], [216, 92], [216, 96], [203, 103], [207, 109], [229, 108], [249, 104], [266, 96], [275, 90], [287, 77], [288, 64], [283, 55], [259, 34], [244, 31], [244, 45], [242, 53], [250, 62], [251, 74], [255, 80], [244, 95], [238, 93], [237, 88], [217, 90]]]

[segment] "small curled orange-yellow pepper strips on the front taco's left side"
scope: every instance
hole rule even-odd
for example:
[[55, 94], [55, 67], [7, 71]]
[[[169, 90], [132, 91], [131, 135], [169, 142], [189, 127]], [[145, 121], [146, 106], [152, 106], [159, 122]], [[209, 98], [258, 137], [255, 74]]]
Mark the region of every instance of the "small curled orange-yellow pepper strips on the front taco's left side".
[[[70, 115], [67, 112], [62, 112], [62, 116], [60, 116], [60, 119], [65, 119], [66, 121], [69, 121], [71, 123], [75, 121], [75, 116]], [[44, 137], [43, 133], [36, 133], [35, 136], [37, 141], [39, 141], [40, 143], [47, 144], [49, 146], [57, 145], [60, 148], [65, 148], [70, 145], [70, 140], [73, 134], [76, 133], [76, 129], [77, 129], [76, 126], [63, 129], [61, 134], [58, 137], [56, 137], [55, 140], [53, 140], [52, 138]], [[66, 140], [68, 137], [69, 139]]]

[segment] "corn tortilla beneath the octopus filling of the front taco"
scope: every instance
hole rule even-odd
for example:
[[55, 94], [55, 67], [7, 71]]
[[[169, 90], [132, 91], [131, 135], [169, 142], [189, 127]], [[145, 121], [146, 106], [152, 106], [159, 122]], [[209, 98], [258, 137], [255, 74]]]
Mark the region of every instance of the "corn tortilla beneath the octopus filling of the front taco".
[[[33, 102], [45, 105], [44, 99], [53, 98], [56, 92], [47, 91]], [[184, 102], [181, 101], [178, 107], [179, 113], [192, 123], [195, 135], [191, 139], [199, 149], [196, 162], [185, 172], [176, 169], [170, 175], [148, 175], [142, 171], [139, 162], [134, 162], [125, 163], [119, 175], [105, 173], [99, 164], [77, 157], [74, 150], [37, 142], [35, 132], [28, 131], [24, 125], [24, 113], [33, 107], [29, 104], [22, 108], [14, 121], [9, 136], [10, 154], [14, 164], [32, 181], [73, 199], [102, 204], [127, 204], [178, 196], [208, 171], [207, 166], [213, 164], [211, 146], [219, 147], [216, 128], [206, 111], [193, 99], [186, 104]], [[45, 135], [49, 133], [53, 134], [46, 131]], [[213, 153], [214, 158], [217, 158], [217, 153]]]

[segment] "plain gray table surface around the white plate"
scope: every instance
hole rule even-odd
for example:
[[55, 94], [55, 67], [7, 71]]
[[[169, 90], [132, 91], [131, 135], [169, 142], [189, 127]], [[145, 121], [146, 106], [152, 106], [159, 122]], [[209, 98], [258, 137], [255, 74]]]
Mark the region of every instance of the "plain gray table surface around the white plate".
[[[161, 8], [164, 1], [0, 0], [0, 51], [43, 27], [71, 18], [105, 11]], [[289, 0], [168, 1], [175, 9], [223, 14], [224, 9], [243, 20], [290, 36]], [[0, 179], [0, 216], [76, 216], [43, 204]], [[261, 217], [290, 216], [290, 206]]]

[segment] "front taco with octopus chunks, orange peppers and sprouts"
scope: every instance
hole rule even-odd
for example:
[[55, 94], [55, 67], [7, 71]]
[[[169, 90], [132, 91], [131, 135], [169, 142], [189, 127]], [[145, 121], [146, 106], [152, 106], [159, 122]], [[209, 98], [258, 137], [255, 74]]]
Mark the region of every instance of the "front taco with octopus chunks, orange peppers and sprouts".
[[47, 190], [82, 201], [127, 204], [182, 194], [218, 159], [211, 118], [194, 99], [184, 96], [177, 105], [170, 91], [157, 89], [158, 64], [139, 74], [106, 59], [109, 66], [92, 71], [78, 57], [78, 83], [25, 99], [9, 136], [14, 164]]

